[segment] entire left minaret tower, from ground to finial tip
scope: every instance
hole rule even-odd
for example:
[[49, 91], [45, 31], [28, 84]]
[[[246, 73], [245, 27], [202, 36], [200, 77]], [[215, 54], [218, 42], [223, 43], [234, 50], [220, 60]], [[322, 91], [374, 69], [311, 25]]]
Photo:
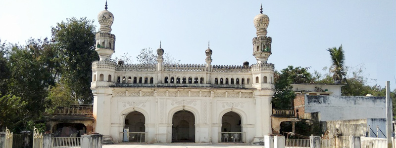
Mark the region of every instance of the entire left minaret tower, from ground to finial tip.
[[[100, 61], [94, 62], [92, 65], [92, 73], [93, 76], [96, 76], [97, 81], [93, 80], [91, 90], [94, 95], [93, 116], [95, 118], [95, 132], [103, 135], [103, 144], [111, 144], [113, 141], [110, 135], [110, 112], [112, 112], [111, 97], [113, 89], [108, 86], [114, 85], [117, 82], [115, 79], [116, 65], [109, 61], [111, 55], [114, 53], [115, 36], [110, 34], [114, 16], [111, 12], [107, 11], [107, 1], [104, 9], [98, 14], [100, 29], [96, 34], [95, 50], [99, 54]], [[123, 65], [123, 61], [119, 61], [119, 64]]]

